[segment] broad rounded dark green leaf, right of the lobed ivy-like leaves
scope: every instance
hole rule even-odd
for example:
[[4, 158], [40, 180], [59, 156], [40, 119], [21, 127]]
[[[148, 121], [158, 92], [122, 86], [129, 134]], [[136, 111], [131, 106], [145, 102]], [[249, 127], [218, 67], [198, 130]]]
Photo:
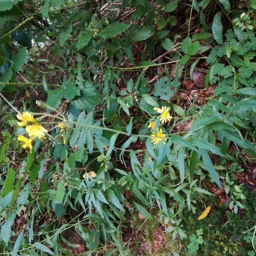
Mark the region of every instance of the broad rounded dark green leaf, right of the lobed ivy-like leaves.
[[80, 110], [90, 110], [96, 104], [99, 104], [99, 93], [95, 86], [90, 82], [79, 82], [79, 90], [81, 96], [76, 96], [71, 100], [72, 104]]

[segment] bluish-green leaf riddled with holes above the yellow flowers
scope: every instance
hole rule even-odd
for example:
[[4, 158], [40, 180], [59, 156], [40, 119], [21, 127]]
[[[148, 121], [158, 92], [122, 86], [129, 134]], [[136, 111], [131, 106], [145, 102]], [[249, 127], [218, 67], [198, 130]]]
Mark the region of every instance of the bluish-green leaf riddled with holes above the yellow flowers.
[[170, 81], [168, 76], [164, 76], [154, 85], [154, 96], [160, 96], [160, 99], [169, 100], [177, 92], [179, 86], [179, 81]]

